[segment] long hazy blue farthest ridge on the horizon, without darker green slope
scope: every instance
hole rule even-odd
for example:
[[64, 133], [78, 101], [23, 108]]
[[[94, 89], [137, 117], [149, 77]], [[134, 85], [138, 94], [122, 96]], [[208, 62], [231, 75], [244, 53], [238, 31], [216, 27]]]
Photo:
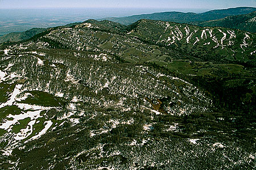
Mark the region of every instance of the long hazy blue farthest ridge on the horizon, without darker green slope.
[[254, 7], [237, 7], [237, 8], [228, 8], [225, 10], [212, 10], [204, 12], [201, 14], [196, 14], [193, 12], [158, 12], [154, 14], [143, 14], [143, 15], [133, 15], [123, 18], [107, 18], [113, 22], [118, 22], [121, 24], [129, 25], [131, 23], [137, 22], [141, 19], [152, 19], [152, 20], [164, 20], [169, 22], [177, 23], [190, 23], [198, 24], [208, 20], [215, 20], [225, 18], [230, 15], [241, 15], [249, 14], [250, 12], [256, 11]]

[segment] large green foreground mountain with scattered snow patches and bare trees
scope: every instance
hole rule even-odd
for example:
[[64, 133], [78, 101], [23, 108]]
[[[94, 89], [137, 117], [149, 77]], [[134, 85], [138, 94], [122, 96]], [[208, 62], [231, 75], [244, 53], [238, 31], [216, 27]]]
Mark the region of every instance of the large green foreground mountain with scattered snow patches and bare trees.
[[226, 35], [249, 44], [230, 64], [188, 53], [236, 56], [233, 30], [206, 29], [88, 20], [1, 46], [1, 168], [255, 168], [255, 74], [238, 64], [255, 34]]

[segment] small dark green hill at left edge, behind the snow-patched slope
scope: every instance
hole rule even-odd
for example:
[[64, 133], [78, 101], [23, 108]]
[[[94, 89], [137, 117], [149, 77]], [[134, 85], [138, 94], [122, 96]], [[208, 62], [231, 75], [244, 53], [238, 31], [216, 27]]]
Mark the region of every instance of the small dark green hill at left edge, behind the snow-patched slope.
[[41, 33], [43, 31], [46, 31], [46, 28], [32, 28], [28, 31], [24, 32], [13, 32], [8, 33], [7, 35], [3, 35], [0, 37], [0, 43], [6, 42], [6, 41], [22, 41], [30, 39], [32, 36]]

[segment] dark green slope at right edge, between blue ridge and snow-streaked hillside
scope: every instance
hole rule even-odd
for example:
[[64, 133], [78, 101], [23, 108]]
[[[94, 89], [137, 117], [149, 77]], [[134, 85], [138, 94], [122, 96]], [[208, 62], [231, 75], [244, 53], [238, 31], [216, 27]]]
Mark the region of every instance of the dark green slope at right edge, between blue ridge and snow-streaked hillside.
[[256, 32], [256, 12], [245, 15], [228, 16], [199, 24], [201, 27], [226, 27]]

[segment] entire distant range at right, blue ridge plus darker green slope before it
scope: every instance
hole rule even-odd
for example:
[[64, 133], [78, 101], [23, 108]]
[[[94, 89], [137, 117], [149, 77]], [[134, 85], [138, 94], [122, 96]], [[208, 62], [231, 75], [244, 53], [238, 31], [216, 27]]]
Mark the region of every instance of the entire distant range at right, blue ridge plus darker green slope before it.
[[107, 19], [125, 25], [137, 22], [140, 19], [152, 19], [176, 23], [194, 24], [204, 27], [220, 26], [236, 28], [255, 32], [255, 28], [253, 26], [254, 24], [253, 22], [250, 22], [250, 20], [253, 20], [255, 17], [254, 11], [256, 11], [256, 8], [254, 7], [237, 7], [228, 8], [225, 10], [212, 10], [201, 14], [196, 14], [193, 12], [159, 12], [154, 14], [133, 15], [123, 18]]

